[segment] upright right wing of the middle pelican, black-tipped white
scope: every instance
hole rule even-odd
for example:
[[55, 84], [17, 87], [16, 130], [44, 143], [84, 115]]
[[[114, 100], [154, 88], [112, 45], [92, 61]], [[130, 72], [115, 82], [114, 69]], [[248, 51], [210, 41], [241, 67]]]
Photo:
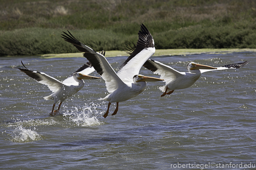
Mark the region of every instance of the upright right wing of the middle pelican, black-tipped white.
[[139, 39], [135, 50], [128, 50], [130, 56], [117, 71], [117, 75], [124, 82], [132, 82], [133, 76], [139, 74], [144, 62], [155, 53], [154, 39], [143, 24], [141, 24], [141, 31], [138, 35]]

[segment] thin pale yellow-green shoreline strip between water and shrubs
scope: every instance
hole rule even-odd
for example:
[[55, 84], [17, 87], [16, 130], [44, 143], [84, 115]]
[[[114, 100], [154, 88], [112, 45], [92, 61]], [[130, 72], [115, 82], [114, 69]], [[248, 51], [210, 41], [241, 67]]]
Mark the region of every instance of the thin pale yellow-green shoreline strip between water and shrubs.
[[[225, 53], [236, 53], [236, 52], [256, 52], [256, 49], [250, 48], [221, 48], [221, 49], [159, 49], [156, 50], [153, 56], [186, 56], [195, 54], [225, 54]], [[44, 54], [40, 55], [41, 58], [69, 58], [69, 57], [83, 57], [83, 53], [62, 53], [62, 54]], [[125, 51], [106, 51], [105, 57], [121, 57], [129, 56]]]

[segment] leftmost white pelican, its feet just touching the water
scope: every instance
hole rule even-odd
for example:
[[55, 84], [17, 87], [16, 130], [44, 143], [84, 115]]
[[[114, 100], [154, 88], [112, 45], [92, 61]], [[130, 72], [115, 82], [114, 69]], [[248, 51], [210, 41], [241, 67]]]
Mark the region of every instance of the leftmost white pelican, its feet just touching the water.
[[[22, 61], [21, 61], [22, 63]], [[22, 63], [25, 67], [25, 65]], [[43, 85], [47, 85], [48, 88], [53, 92], [51, 95], [44, 97], [45, 100], [54, 100], [52, 110], [50, 115], [54, 116], [59, 112], [60, 106], [62, 102], [64, 102], [68, 97], [77, 93], [84, 86], [84, 81], [82, 79], [100, 79], [100, 77], [88, 76], [88, 74], [95, 71], [95, 69], [91, 66], [89, 62], [81, 66], [76, 72], [71, 74], [67, 79], [63, 82], [58, 81], [57, 79], [48, 76], [43, 72], [32, 71], [27, 69], [27, 67], [13, 67], [17, 68], [20, 71], [24, 72], [26, 75], [41, 83]], [[55, 104], [60, 101], [59, 107], [57, 110], [54, 110]], [[54, 110], [54, 111], [53, 111]]]

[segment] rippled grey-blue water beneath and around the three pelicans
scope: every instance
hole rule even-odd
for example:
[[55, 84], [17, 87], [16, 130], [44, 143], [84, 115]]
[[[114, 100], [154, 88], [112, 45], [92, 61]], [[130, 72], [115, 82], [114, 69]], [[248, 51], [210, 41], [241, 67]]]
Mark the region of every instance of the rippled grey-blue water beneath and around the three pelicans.
[[[108, 94], [102, 79], [86, 81], [63, 102], [61, 115], [50, 117], [53, 101], [43, 99], [51, 94], [48, 87], [12, 68], [22, 59], [27, 68], [64, 80], [86, 59], [1, 58], [0, 169], [172, 169], [178, 163], [187, 164], [182, 169], [202, 169], [188, 163], [213, 162], [215, 167], [204, 169], [228, 169], [216, 166], [255, 164], [255, 56], [152, 57], [178, 71], [186, 71], [189, 61], [210, 66], [250, 62], [237, 70], [203, 73], [195, 85], [165, 97], [158, 90], [163, 82], [148, 82], [144, 92], [119, 103], [118, 113], [106, 119], [107, 103], [97, 100]], [[116, 71], [125, 60], [108, 58]], [[159, 77], [144, 68], [140, 74]], [[110, 113], [114, 109], [112, 104]]]

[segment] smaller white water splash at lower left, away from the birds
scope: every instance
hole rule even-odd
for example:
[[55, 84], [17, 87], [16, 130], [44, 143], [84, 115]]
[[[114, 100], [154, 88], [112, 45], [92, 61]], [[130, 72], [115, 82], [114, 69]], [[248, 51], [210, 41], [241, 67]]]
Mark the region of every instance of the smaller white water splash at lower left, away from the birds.
[[22, 126], [18, 126], [12, 132], [13, 142], [30, 142], [34, 140], [41, 140], [42, 137], [31, 129], [25, 129]]

